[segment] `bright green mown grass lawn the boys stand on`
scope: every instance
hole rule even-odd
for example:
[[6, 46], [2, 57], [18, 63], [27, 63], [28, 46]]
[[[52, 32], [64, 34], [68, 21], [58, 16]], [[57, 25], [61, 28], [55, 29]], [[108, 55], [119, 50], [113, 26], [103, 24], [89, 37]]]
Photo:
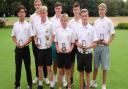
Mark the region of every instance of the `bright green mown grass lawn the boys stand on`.
[[[116, 38], [110, 46], [111, 66], [108, 72], [107, 89], [128, 89], [128, 31], [117, 30]], [[9, 28], [0, 29], [0, 89], [14, 89], [15, 80], [15, 61], [14, 61], [14, 44], [11, 40], [11, 30]], [[32, 52], [31, 52], [32, 55]], [[31, 69], [33, 78], [35, 76], [35, 66], [33, 55], [31, 56]], [[98, 88], [101, 89], [102, 72], [99, 70], [97, 77]], [[75, 66], [74, 75], [75, 85], [72, 89], [79, 89], [79, 73]], [[27, 89], [26, 73], [22, 66], [21, 77], [22, 89]], [[34, 85], [33, 89], [37, 89]], [[44, 86], [44, 89], [49, 89]], [[57, 87], [56, 87], [57, 89]]]

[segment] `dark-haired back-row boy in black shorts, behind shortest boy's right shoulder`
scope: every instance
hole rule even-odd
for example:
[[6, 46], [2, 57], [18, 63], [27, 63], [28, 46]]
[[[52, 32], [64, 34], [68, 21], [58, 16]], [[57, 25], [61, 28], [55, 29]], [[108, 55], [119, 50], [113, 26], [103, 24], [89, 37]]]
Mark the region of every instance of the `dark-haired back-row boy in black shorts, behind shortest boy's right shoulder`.
[[[82, 21], [80, 19], [80, 4], [79, 3], [73, 4], [73, 13], [74, 13], [74, 17], [70, 20], [69, 27], [73, 30], [73, 33], [76, 34], [76, 31], [79, 31], [79, 27], [82, 24]], [[74, 48], [71, 52], [71, 62], [72, 62], [71, 86], [73, 85], [74, 64], [75, 64], [76, 53], [77, 53], [77, 47], [76, 47], [76, 45], [74, 45]]]

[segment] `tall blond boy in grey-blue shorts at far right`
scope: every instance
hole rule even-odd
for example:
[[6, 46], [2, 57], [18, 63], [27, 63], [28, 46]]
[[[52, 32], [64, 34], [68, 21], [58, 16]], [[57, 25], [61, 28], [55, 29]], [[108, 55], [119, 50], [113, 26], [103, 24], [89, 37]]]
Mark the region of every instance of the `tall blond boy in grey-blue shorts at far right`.
[[115, 30], [112, 21], [106, 17], [106, 4], [101, 3], [98, 8], [100, 17], [94, 22], [94, 27], [99, 40], [94, 50], [94, 72], [91, 86], [97, 87], [96, 76], [101, 65], [103, 70], [102, 89], [106, 89], [107, 71], [109, 68], [109, 44], [114, 39]]

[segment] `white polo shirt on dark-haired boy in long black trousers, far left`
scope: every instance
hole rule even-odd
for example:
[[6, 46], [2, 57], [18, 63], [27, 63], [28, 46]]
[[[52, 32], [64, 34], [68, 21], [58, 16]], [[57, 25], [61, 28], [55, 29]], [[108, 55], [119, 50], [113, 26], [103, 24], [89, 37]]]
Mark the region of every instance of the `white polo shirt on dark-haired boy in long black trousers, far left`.
[[22, 40], [24, 44], [30, 37], [34, 36], [31, 24], [26, 20], [22, 23], [19, 21], [14, 23], [11, 36], [15, 36], [18, 42]]

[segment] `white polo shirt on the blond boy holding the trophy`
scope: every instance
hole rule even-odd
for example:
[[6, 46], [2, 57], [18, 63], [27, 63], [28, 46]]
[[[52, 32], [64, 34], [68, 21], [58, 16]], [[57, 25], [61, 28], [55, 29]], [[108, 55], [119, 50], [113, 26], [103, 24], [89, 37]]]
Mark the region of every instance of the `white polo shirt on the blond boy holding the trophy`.
[[[37, 24], [35, 30], [34, 30], [35, 36], [40, 39], [40, 46], [39, 49], [47, 49], [51, 47], [52, 43], [52, 29], [50, 22], [46, 20], [45, 23], [40, 22]], [[49, 35], [49, 39], [46, 40], [46, 34]]]

